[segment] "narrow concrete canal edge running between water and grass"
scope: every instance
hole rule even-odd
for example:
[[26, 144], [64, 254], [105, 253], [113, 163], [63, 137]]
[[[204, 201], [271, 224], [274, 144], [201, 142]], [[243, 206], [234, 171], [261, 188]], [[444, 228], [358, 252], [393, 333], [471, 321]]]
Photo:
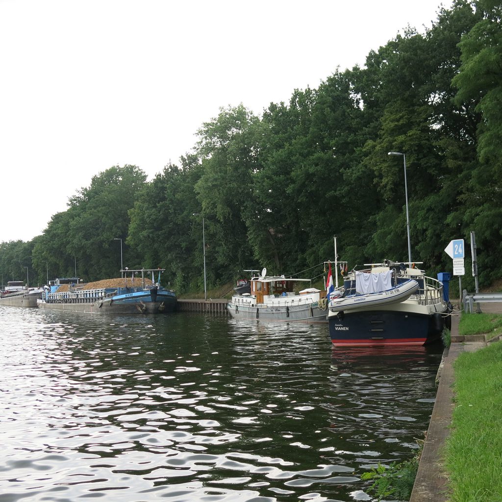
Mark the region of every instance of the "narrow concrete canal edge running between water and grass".
[[[481, 311], [486, 313], [502, 313], [502, 304], [481, 304]], [[441, 450], [450, 432], [453, 413], [454, 373], [453, 362], [461, 352], [472, 352], [486, 346], [484, 335], [469, 337], [468, 341], [458, 335], [459, 316], [452, 317], [451, 346], [445, 349], [443, 360], [438, 371], [440, 374], [438, 391], [431, 421], [425, 438], [417, 477], [413, 486], [410, 502], [447, 502], [447, 478], [442, 468]], [[458, 342], [455, 342], [458, 340]]]

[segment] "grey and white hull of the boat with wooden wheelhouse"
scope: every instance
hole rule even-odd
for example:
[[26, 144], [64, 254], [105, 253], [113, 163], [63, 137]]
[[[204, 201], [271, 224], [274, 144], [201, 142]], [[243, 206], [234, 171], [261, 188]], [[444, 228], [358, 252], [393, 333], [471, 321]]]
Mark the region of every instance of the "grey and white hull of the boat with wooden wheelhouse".
[[233, 318], [248, 321], [327, 322], [326, 310], [320, 309], [318, 302], [290, 307], [247, 306], [230, 302], [227, 309]]

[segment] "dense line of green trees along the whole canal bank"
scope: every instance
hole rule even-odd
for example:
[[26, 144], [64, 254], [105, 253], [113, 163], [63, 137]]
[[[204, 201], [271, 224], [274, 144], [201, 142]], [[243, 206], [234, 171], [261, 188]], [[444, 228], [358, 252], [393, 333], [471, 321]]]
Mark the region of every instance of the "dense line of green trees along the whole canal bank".
[[202, 218], [208, 287], [333, 259], [335, 234], [350, 267], [406, 260], [403, 158], [390, 151], [406, 154], [413, 260], [451, 270], [444, 247], [474, 230], [481, 285], [502, 277], [500, 18], [493, 0], [456, 0], [424, 34], [406, 29], [261, 116], [220, 109], [180, 165], [151, 181], [111, 167], [42, 235], [0, 244], [4, 281], [116, 277], [121, 238], [124, 266], [201, 289]]

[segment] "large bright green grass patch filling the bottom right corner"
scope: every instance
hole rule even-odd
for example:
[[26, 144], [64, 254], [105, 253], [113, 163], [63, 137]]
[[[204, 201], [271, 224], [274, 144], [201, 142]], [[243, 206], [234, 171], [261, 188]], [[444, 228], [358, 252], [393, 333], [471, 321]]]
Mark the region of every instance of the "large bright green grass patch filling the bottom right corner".
[[502, 343], [460, 354], [454, 370], [456, 406], [444, 452], [450, 500], [500, 502]]

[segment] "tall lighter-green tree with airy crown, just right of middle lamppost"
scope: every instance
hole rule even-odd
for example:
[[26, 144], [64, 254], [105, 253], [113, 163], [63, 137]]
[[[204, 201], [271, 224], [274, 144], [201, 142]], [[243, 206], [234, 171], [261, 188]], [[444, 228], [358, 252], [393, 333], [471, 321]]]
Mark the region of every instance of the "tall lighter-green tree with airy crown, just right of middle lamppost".
[[252, 254], [244, 214], [256, 201], [254, 173], [260, 170], [261, 123], [242, 104], [221, 108], [198, 131], [197, 156], [202, 166], [195, 193], [205, 217], [208, 273], [225, 280], [249, 268]]

